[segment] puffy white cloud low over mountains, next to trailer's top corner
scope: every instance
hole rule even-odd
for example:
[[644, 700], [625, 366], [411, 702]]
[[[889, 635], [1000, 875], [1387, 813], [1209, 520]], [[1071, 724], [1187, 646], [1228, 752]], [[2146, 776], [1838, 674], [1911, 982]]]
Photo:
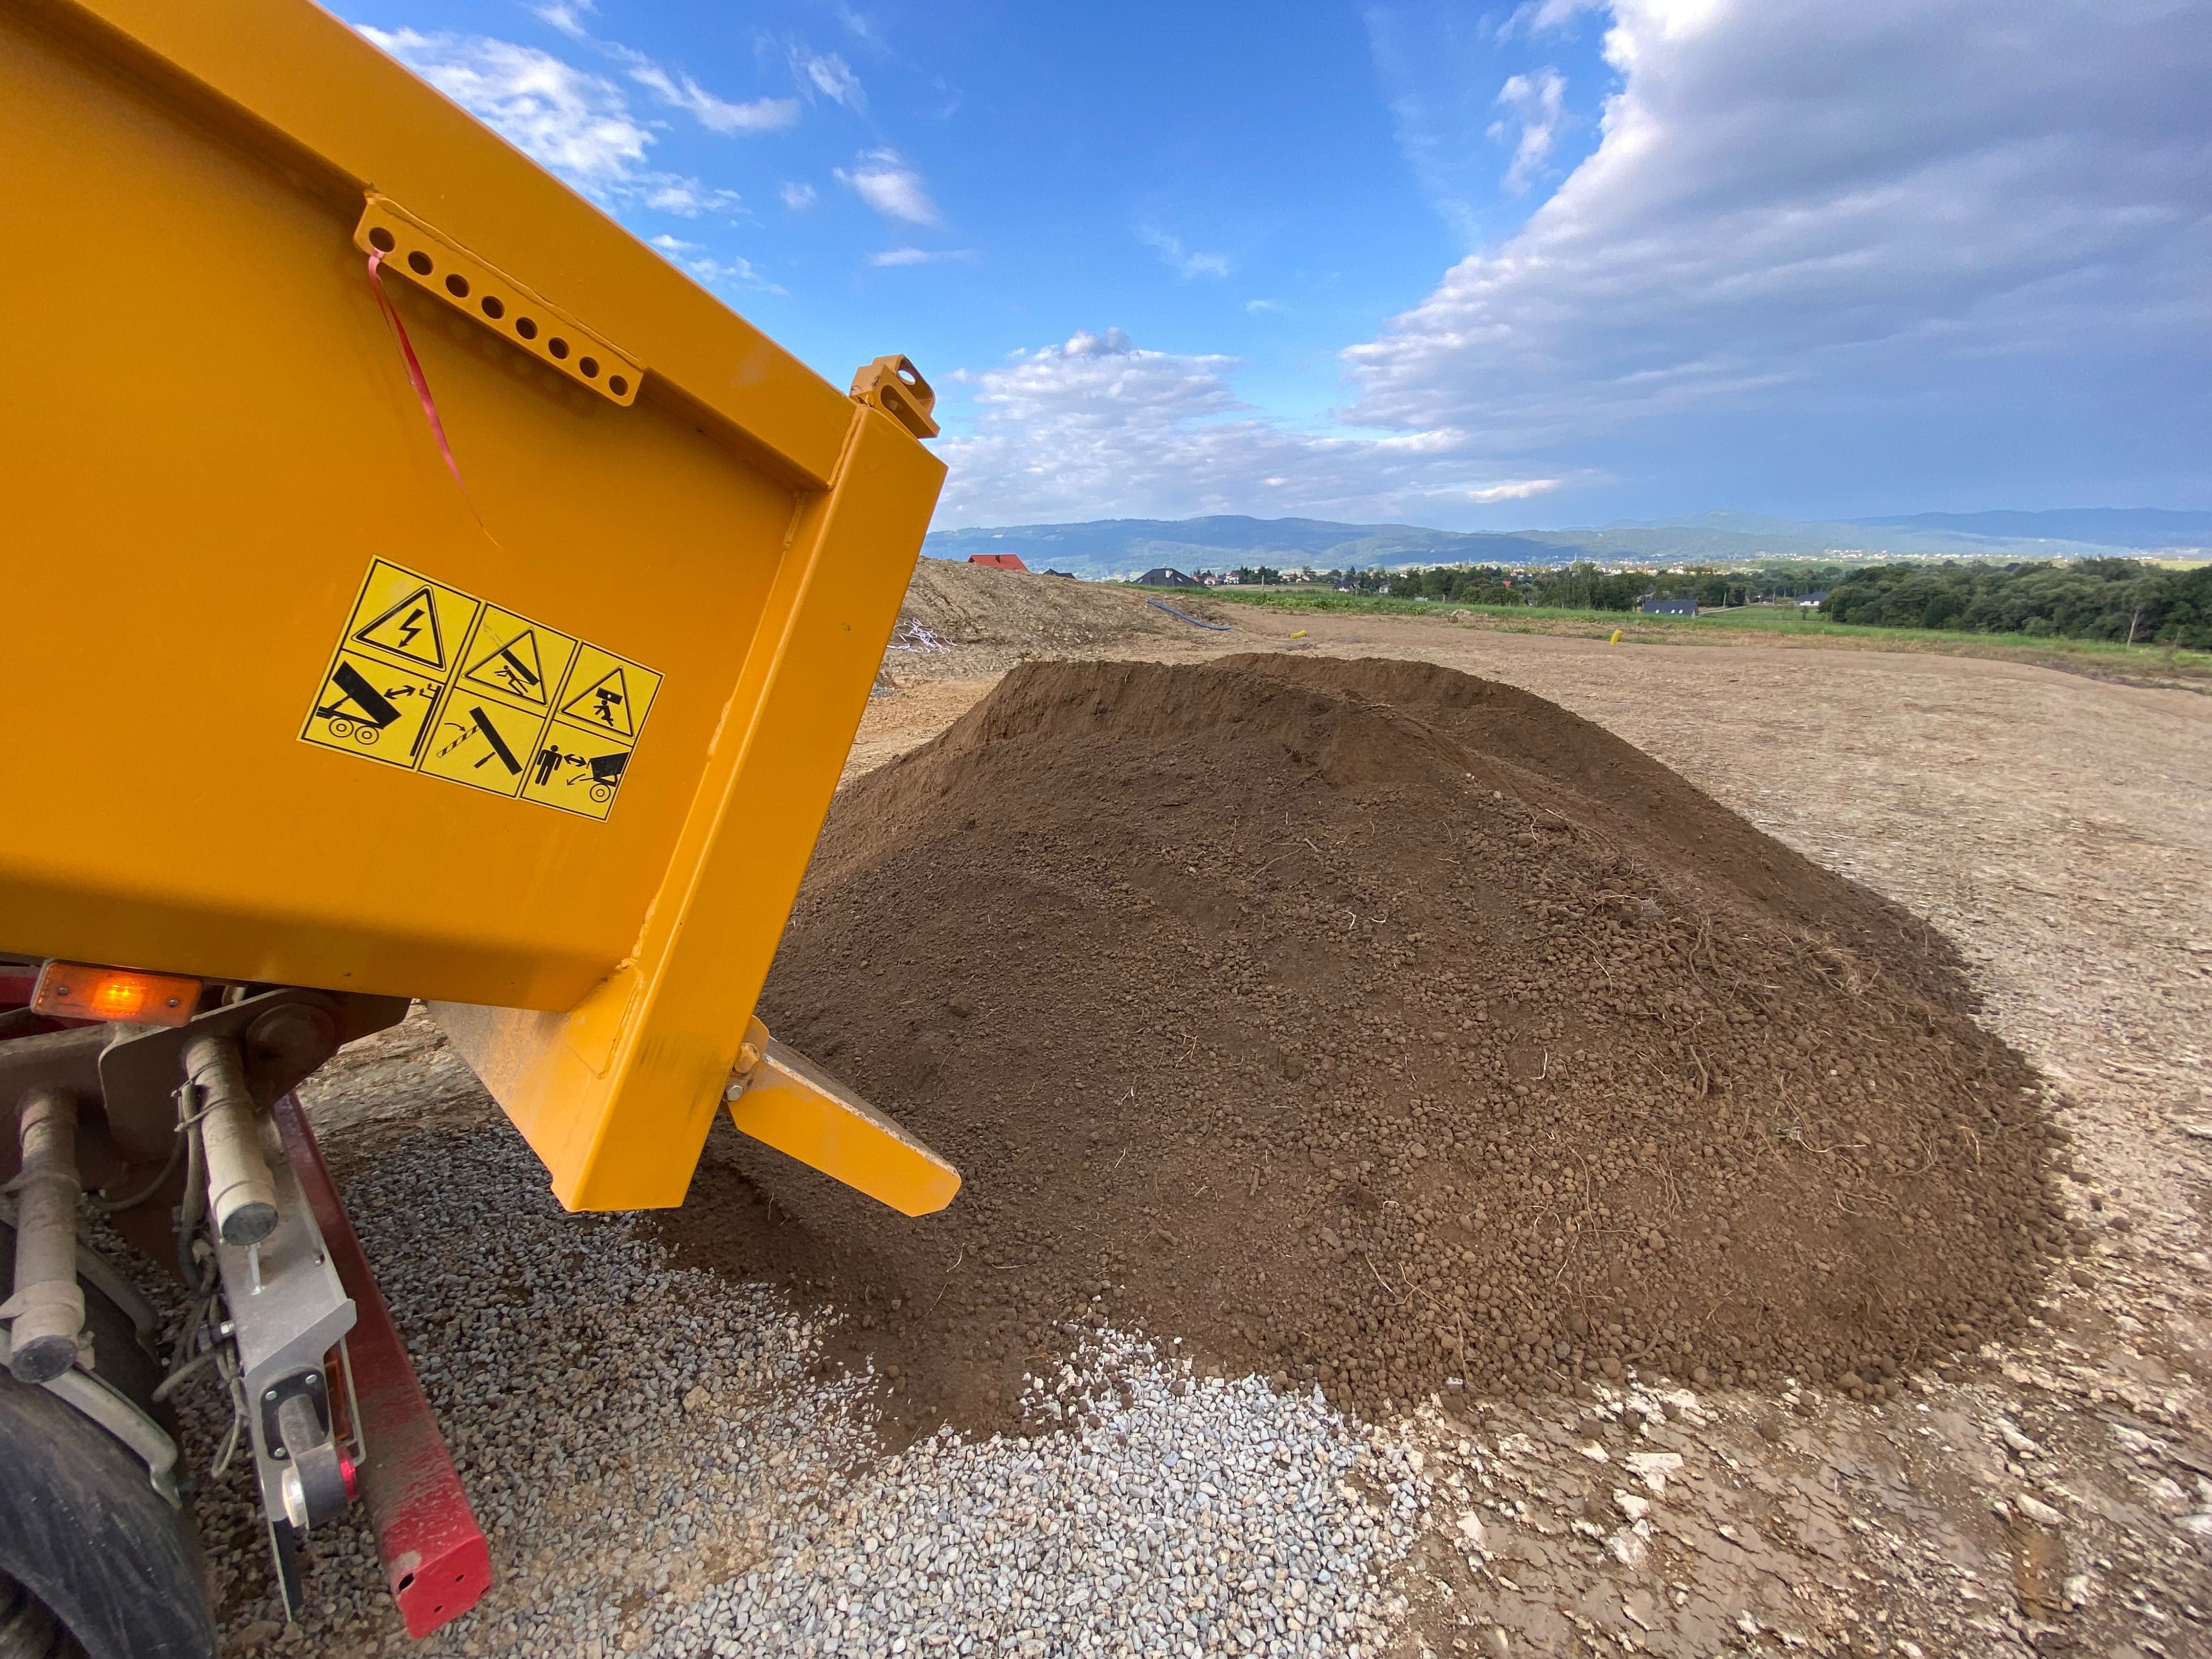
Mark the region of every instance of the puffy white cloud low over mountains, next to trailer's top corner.
[[971, 434], [938, 442], [951, 467], [940, 526], [1186, 513], [1436, 515], [1537, 493], [1498, 478], [1449, 429], [1356, 438], [1292, 431], [1230, 389], [1225, 356], [1146, 352], [1128, 334], [1075, 334], [1018, 354], [973, 387]]

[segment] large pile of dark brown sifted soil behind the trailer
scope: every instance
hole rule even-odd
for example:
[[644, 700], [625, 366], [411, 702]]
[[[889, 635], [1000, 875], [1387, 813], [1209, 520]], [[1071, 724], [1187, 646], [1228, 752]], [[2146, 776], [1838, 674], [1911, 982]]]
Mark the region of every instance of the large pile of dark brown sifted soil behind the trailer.
[[852, 1312], [916, 1422], [1071, 1321], [1365, 1409], [1887, 1394], [2064, 1245], [1938, 936], [1425, 664], [1018, 668], [838, 799], [763, 1018], [967, 1186], [909, 1221], [723, 1128], [668, 1237]]

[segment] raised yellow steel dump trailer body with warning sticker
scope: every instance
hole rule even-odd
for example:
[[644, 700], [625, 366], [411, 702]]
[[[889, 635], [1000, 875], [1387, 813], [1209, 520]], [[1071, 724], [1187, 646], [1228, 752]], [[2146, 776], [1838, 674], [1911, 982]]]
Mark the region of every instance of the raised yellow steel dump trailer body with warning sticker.
[[0, 11], [0, 949], [431, 1000], [564, 1203], [681, 1201], [942, 480], [911, 396], [290, 0]]

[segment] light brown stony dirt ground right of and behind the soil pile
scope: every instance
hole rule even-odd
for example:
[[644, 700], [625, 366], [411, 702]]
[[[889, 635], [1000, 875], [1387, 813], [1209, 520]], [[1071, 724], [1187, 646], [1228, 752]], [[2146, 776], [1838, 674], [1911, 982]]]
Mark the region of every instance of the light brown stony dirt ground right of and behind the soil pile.
[[[1964, 1380], [1433, 1400], [1398, 1650], [2212, 1652], [2212, 703], [1964, 657], [1223, 615], [1079, 655], [1418, 657], [1599, 721], [1947, 933], [2073, 1133], [2079, 1259]], [[894, 653], [854, 768], [942, 730], [1006, 650]]]

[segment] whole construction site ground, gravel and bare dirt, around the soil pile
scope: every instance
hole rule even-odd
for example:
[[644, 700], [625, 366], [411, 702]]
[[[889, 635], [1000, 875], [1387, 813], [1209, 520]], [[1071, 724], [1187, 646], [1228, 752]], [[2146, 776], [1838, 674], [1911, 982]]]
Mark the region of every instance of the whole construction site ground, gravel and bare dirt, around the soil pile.
[[[931, 1433], [863, 1310], [717, 1279], [646, 1219], [562, 1217], [416, 1015], [310, 1108], [493, 1537], [498, 1586], [418, 1650], [2212, 1652], [2212, 699], [1964, 657], [1192, 615], [1225, 628], [925, 566], [849, 774], [1022, 657], [1407, 657], [1553, 699], [1955, 945], [2070, 1135], [2073, 1248], [2031, 1318], [1887, 1400], [1624, 1376], [1374, 1420], [1208, 1376], [1170, 1329], [1086, 1325], [1020, 1431]], [[239, 1650], [409, 1646], [345, 1528], [312, 1542], [319, 1610], [279, 1626], [237, 1484], [204, 1513]]]

